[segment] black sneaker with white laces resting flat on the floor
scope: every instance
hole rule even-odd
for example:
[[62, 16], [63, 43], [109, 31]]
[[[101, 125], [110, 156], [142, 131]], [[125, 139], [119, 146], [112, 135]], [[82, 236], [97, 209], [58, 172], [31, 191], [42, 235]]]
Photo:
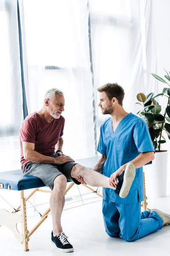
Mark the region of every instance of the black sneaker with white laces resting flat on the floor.
[[51, 240], [54, 245], [57, 246], [57, 249], [64, 253], [70, 253], [74, 251], [73, 246], [67, 240], [68, 236], [64, 232], [59, 233], [57, 236], [53, 236], [53, 231], [51, 233]]

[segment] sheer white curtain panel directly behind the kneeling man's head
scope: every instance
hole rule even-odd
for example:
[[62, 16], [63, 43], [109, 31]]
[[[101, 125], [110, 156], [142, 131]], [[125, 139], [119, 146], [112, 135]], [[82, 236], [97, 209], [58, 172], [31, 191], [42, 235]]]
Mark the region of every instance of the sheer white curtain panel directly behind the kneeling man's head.
[[[140, 2], [90, 0], [97, 134], [102, 116], [96, 88], [117, 82], [125, 90], [124, 107], [136, 114], [136, 95], [143, 90], [144, 71]], [[141, 89], [142, 88], [142, 89]]]

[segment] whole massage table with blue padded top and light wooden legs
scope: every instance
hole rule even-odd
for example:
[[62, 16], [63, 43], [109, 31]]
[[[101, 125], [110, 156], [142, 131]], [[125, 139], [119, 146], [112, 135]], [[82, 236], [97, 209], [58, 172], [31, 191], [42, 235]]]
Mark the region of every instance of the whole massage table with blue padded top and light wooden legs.
[[[99, 157], [89, 157], [84, 159], [76, 160], [76, 163], [79, 163], [88, 169], [92, 169], [95, 166]], [[143, 173], [144, 174], [144, 173]], [[68, 181], [70, 182], [70, 181]], [[65, 194], [74, 186], [74, 182], [70, 182], [70, 185], [66, 188]], [[0, 172], [0, 189], [8, 189], [8, 190], [17, 190], [20, 191], [20, 206], [17, 209], [14, 209], [13, 212], [8, 212], [5, 209], [0, 209], [0, 225], [7, 226], [19, 240], [23, 246], [24, 251], [28, 251], [28, 241], [30, 236], [37, 230], [38, 227], [45, 221], [48, 217], [48, 213], [50, 212], [50, 208], [48, 208], [44, 214], [41, 215], [40, 221], [32, 228], [29, 232], [27, 229], [27, 214], [26, 214], [26, 201], [28, 201], [35, 192], [46, 192], [51, 193], [51, 191], [40, 189], [44, 187], [45, 184], [40, 180], [40, 178], [33, 176], [24, 176], [21, 169], [8, 171], [8, 172]], [[81, 186], [85, 186], [90, 189], [92, 192], [95, 192], [96, 195], [102, 198], [102, 195], [97, 193], [94, 189], [89, 187], [88, 185], [81, 184]], [[27, 198], [24, 197], [24, 191], [26, 189], [34, 189]], [[144, 181], [144, 201], [142, 202], [142, 207], [145, 210], [147, 206], [146, 202], [146, 193], [145, 193], [145, 181]], [[21, 214], [15, 214], [18, 211], [21, 211]], [[17, 223], [22, 223], [22, 233], [19, 233], [17, 230]]]

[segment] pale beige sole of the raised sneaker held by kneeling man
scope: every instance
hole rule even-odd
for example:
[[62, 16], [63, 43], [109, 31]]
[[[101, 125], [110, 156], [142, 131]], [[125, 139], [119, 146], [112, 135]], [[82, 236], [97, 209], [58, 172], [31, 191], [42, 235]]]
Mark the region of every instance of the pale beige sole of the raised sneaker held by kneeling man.
[[128, 163], [125, 168], [125, 173], [123, 177], [122, 188], [120, 189], [119, 196], [121, 198], [127, 197], [130, 188], [132, 186], [133, 180], [136, 175], [136, 169], [133, 163]]

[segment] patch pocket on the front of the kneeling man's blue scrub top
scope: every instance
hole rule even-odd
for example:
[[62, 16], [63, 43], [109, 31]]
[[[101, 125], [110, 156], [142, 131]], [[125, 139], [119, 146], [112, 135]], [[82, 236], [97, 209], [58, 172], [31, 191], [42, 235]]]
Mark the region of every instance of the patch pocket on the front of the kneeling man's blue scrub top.
[[116, 140], [116, 154], [118, 158], [130, 158], [131, 142], [127, 140]]

